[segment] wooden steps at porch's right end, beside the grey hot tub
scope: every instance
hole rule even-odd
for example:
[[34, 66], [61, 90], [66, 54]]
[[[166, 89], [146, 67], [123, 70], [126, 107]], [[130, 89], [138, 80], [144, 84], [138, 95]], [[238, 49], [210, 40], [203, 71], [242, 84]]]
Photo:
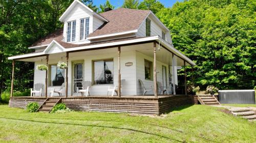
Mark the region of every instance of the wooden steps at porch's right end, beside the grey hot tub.
[[221, 105], [214, 95], [198, 95], [197, 99], [202, 105]]

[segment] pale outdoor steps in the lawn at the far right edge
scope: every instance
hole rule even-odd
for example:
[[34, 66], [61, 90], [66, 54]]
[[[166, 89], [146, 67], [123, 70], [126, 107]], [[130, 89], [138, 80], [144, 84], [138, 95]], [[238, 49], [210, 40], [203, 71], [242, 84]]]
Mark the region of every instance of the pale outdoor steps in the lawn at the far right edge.
[[256, 113], [250, 108], [230, 108], [229, 111], [234, 116], [241, 116], [249, 121], [256, 121]]

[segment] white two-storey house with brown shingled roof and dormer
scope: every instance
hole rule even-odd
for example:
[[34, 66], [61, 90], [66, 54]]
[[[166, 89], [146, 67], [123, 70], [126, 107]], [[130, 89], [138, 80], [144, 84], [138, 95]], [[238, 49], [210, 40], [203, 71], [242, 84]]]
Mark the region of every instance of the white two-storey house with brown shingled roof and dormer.
[[[98, 14], [75, 0], [59, 20], [63, 28], [29, 47], [35, 52], [8, 58], [35, 64], [34, 84], [45, 85], [42, 96], [49, 97], [61, 85], [63, 96], [77, 96], [77, 87], [86, 81], [91, 82], [90, 96], [105, 96], [113, 85], [121, 89], [119, 96], [143, 95], [139, 79], [153, 86], [147, 95], [157, 96], [157, 83], [164, 89], [177, 85], [177, 67], [195, 65], [174, 48], [168, 28], [148, 10]], [[68, 68], [59, 69], [59, 61]], [[41, 64], [48, 71], [37, 70]]]

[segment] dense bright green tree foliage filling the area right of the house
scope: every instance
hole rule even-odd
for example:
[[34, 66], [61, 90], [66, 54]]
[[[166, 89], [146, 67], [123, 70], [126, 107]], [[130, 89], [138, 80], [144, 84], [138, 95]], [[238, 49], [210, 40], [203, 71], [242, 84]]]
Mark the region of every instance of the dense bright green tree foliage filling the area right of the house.
[[157, 15], [168, 26], [175, 48], [197, 64], [197, 84], [253, 89], [255, 7], [253, 0], [190, 0], [162, 9]]

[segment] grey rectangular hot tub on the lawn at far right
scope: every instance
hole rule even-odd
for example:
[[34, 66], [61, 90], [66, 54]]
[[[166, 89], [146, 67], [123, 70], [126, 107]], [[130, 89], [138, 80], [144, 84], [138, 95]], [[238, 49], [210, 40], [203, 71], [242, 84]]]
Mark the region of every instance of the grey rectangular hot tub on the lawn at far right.
[[223, 104], [255, 104], [254, 90], [220, 90], [219, 102]]

